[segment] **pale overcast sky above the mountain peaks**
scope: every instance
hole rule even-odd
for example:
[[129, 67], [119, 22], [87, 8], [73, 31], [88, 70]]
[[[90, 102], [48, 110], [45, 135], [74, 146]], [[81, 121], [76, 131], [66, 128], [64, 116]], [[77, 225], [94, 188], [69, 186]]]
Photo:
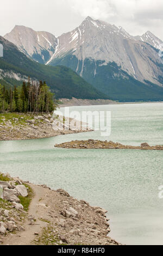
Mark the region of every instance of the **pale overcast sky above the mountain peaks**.
[[1, 0], [0, 35], [15, 25], [58, 36], [87, 17], [122, 26], [131, 35], [151, 31], [163, 40], [162, 0]]

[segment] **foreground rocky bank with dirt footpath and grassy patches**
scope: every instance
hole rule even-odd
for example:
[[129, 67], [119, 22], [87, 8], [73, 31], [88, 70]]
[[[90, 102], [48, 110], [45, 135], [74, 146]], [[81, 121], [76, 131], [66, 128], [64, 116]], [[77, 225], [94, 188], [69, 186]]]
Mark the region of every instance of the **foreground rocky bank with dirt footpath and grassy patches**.
[[61, 188], [0, 175], [1, 245], [120, 245], [108, 236], [106, 212]]

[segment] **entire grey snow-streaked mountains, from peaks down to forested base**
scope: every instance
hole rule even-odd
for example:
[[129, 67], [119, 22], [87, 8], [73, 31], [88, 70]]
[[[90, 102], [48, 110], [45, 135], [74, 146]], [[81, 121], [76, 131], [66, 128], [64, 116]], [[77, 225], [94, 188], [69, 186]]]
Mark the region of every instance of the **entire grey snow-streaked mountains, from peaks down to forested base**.
[[72, 69], [112, 100], [163, 99], [163, 42], [149, 31], [132, 36], [122, 27], [87, 17], [58, 37], [15, 26], [4, 38], [37, 63]]

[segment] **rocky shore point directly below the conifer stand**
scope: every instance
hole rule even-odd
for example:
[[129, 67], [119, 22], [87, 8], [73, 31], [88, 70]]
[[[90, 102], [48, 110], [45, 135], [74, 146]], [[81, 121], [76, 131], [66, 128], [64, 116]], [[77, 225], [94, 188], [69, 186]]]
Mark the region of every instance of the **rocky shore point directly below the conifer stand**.
[[[15, 117], [14, 117], [15, 116]], [[71, 119], [72, 121], [73, 119]], [[64, 119], [66, 122], [66, 118]], [[76, 120], [74, 120], [75, 123]], [[56, 127], [55, 126], [56, 123]], [[57, 124], [58, 123], [58, 124]], [[58, 126], [57, 126], [58, 125]], [[48, 138], [70, 133], [91, 131], [89, 127], [83, 131], [72, 129], [70, 125], [62, 128], [61, 118], [53, 118], [51, 114], [5, 114], [0, 115], [0, 141], [14, 141], [21, 139]]]

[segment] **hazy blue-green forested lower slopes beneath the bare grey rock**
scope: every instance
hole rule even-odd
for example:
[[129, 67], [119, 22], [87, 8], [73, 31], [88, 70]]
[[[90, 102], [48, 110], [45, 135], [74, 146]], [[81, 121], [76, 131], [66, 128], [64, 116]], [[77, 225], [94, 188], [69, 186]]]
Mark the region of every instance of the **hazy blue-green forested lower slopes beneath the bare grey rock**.
[[[76, 70], [78, 65], [78, 74], [80, 74], [83, 63], [81, 60], [78, 64], [77, 57], [69, 52], [60, 59], [54, 59], [51, 65], [65, 65], [72, 70]], [[161, 68], [163, 69], [163, 65]], [[108, 95], [111, 100], [122, 102], [163, 100], [163, 87], [148, 81], [142, 83], [136, 80], [114, 62], [105, 64], [101, 60], [97, 60], [95, 65], [94, 59], [85, 59], [82, 77], [93, 87]], [[159, 82], [163, 83], [162, 77], [160, 77]]]

